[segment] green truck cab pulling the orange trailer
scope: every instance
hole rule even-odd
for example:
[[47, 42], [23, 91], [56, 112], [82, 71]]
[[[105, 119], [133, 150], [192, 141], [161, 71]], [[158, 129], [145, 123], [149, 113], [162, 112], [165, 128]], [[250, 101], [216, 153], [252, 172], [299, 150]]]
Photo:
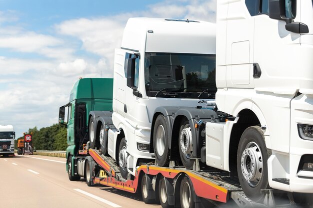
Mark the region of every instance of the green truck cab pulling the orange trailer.
[[78, 180], [75, 157], [89, 141], [88, 123], [90, 111], [112, 110], [112, 78], [83, 78], [73, 85], [69, 102], [59, 108], [60, 124], [67, 128], [66, 171], [71, 181]]

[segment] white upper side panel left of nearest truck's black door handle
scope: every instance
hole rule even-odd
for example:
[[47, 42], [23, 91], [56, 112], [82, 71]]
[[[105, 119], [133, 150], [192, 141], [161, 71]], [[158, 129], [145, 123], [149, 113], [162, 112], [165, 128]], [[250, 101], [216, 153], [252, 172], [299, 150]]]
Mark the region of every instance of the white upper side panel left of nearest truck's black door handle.
[[253, 27], [254, 19], [247, 7], [255, 9], [256, 0], [228, 3], [226, 37], [227, 88], [253, 88]]

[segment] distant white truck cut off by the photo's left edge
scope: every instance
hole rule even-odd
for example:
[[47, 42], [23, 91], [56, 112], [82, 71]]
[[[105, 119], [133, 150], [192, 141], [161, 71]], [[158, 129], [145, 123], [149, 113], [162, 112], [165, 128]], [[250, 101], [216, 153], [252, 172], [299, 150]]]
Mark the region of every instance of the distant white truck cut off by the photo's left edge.
[[12, 125], [0, 125], [0, 155], [2, 157], [14, 156], [15, 132]]

